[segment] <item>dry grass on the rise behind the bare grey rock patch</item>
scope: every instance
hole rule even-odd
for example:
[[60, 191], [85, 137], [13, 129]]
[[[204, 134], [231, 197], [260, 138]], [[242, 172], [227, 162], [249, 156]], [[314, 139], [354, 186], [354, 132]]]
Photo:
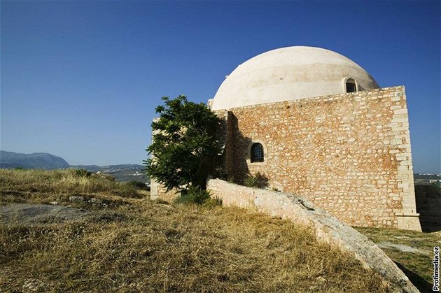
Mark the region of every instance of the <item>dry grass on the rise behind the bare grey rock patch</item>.
[[[35, 169], [0, 169], [0, 204], [6, 203], [50, 203], [70, 204], [69, 197], [83, 196], [85, 201], [95, 198], [105, 206], [120, 206], [132, 198], [143, 198], [148, 194], [133, 185], [120, 183], [99, 176], [83, 177], [74, 169], [43, 171]], [[89, 208], [102, 206], [89, 206]]]

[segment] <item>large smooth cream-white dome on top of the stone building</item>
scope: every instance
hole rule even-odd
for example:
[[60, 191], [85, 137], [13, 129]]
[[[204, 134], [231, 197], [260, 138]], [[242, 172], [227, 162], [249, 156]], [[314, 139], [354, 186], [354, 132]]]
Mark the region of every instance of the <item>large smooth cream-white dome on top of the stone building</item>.
[[314, 47], [286, 47], [255, 56], [237, 66], [209, 101], [213, 110], [290, 101], [379, 88], [372, 76], [342, 55]]

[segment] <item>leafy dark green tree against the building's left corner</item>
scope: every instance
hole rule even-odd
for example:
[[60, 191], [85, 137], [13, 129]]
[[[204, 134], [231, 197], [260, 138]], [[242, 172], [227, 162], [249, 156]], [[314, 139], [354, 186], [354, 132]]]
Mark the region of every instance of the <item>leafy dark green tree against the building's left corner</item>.
[[216, 129], [220, 119], [204, 103], [187, 101], [185, 96], [169, 99], [158, 106], [160, 115], [152, 122], [153, 142], [146, 149], [148, 176], [167, 188], [206, 189], [206, 180], [219, 152]]

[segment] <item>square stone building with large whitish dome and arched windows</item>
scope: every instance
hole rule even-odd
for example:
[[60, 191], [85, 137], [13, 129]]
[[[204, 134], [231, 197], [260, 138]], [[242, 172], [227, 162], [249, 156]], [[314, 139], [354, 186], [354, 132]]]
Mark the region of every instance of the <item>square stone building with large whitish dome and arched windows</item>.
[[288, 47], [240, 64], [208, 105], [230, 180], [259, 172], [348, 224], [421, 230], [404, 87], [380, 88], [336, 52]]

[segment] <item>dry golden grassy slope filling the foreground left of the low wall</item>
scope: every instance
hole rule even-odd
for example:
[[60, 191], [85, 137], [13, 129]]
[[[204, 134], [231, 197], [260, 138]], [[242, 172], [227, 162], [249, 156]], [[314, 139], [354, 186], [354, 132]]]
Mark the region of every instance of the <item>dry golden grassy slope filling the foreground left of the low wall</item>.
[[94, 215], [0, 223], [5, 291], [388, 292], [377, 273], [309, 229], [239, 208], [150, 201], [71, 170], [0, 170], [0, 199], [57, 201]]

